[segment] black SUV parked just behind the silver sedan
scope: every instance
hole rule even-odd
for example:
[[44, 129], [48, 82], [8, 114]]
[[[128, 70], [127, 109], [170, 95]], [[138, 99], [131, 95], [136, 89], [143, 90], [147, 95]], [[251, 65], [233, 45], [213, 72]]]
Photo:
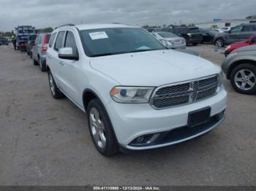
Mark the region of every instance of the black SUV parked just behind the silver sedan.
[[173, 34], [183, 37], [186, 39], [186, 44], [197, 45], [202, 42], [203, 39], [202, 34], [197, 27], [173, 26], [162, 28], [161, 31], [172, 32]]

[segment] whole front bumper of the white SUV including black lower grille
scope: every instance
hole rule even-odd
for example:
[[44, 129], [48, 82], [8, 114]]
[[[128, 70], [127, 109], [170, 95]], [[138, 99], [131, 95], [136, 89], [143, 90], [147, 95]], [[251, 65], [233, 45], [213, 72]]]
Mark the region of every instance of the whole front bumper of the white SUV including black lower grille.
[[[178, 144], [217, 128], [225, 119], [226, 101], [227, 92], [222, 87], [211, 98], [169, 109], [156, 110], [149, 104], [111, 101], [107, 110], [120, 147], [143, 150]], [[191, 114], [195, 113], [194, 120], [197, 120], [196, 114], [202, 109], [205, 109], [203, 113], [208, 112], [207, 120], [189, 124]]]

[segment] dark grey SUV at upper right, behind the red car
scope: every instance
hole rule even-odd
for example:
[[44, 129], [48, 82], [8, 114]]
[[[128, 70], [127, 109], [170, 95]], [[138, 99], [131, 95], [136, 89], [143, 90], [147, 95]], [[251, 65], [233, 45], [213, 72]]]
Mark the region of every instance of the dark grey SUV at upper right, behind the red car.
[[242, 42], [256, 34], [256, 23], [246, 23], [235, 26], [230, 31], [214, 36], [214, 45], [224, 47], [227, 44]]

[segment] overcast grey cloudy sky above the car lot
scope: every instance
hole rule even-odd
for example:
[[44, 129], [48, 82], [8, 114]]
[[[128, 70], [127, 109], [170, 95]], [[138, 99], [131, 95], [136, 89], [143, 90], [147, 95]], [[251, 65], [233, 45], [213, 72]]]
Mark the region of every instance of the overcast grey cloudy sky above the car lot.
[[256, 15], [255, 0], [0, 0], [0, 7], [0, 31], [65, 23], [162, 26]]

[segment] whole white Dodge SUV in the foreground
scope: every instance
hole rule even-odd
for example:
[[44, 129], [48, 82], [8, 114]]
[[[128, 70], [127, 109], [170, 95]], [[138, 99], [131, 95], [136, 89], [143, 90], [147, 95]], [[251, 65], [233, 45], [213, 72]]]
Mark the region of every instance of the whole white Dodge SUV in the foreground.
[[102, 155], [187, 141], [225, 118], [220, 67], [167, 50], [142, 28], [61, 26], [47, 54], [53, 98], [66, 95], [87, 113]]

